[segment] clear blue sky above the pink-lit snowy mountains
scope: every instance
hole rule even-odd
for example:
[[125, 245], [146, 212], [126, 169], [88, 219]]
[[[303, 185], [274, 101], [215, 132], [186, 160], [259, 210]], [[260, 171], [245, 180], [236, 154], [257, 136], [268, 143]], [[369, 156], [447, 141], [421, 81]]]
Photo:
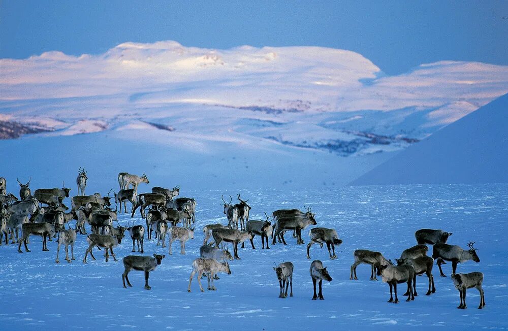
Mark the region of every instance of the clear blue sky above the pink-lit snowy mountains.
[[324, 46], [385, 73], [439, 60], [508, 64], [508, 2], [0, 0], [0, 58], [100, 54], [124, 42]]

